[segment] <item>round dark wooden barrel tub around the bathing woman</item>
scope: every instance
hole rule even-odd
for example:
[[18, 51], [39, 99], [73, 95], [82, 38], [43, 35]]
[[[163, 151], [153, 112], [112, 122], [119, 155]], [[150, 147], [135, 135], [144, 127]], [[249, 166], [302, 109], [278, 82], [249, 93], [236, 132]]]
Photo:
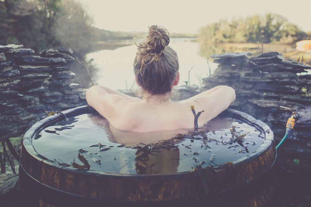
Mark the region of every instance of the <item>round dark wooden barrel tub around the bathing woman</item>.
[[[82, 106], [63, 113], [70, 117], [96, 112]], [[38, 154], [32, 145], [38, 131], [65, 119], [49, 116], [34, 124], [22, 140], [21, 206], [270, 206], [277, 183], [273, 133], [248, 114], [232, 109], [223, 113], [260, 129], [264, 141], [258, 149], [230, 164], [144, 175], [77, 170]]]

